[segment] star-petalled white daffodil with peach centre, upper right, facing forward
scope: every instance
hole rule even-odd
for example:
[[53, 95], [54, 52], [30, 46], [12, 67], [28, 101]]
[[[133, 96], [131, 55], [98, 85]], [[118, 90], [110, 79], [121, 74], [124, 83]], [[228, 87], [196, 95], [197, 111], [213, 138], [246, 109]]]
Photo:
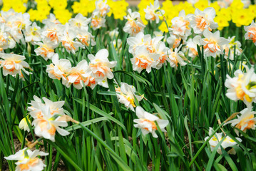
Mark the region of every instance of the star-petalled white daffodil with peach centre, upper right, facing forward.
[[205, 38], [202, 38], [201, 43], [203, 44], [205, 57], [213, 56], [213, 58], [216, 58], [217, 55], [223, 54], [223, 45], [230, 42], [226, 38], [220, 37], [220, 31], [212, 33], [206, 29], [203, 36]]

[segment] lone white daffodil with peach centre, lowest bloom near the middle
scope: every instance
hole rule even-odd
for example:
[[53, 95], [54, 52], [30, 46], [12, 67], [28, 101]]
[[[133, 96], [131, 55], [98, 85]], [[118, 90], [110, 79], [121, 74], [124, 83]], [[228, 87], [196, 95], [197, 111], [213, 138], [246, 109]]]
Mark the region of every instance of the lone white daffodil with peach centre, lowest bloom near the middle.
[[166, 132], [165, 127], [168, 125], [168, 120], [162, 120], [155, 115], [152, 115], [148, 112], [145, 112], [143, 108], [138, 106], [136, 108], [136, 115], [138, 119], [133, 120], [136, 124], [134, 124], [135, 128], [140, 128], [143, 135], [147, 135], [148, 133], [152, 133], [153, 138], [158, 138], [155, 130], [158, 130], [156, 123], [161, 131]]

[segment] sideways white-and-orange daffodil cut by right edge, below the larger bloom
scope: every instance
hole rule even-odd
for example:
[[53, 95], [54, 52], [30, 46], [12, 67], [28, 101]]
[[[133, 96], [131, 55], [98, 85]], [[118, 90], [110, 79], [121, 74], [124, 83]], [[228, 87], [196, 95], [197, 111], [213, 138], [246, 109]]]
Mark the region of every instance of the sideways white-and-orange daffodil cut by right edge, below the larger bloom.
[[[235, 126], [235, 128], [238, 128], [246, 133], [246, 130], [255, 130], [256, 128], [256, 118], [255, 114], [256, 112], [252, 111], [252, 106], [249, 106], [248, 108], [245, 108], [242, 110], [241, 115], [237, 115], [237, 119], [233, 119], [228, 121], [226, 124], [231, 123], [231, 126]], [[235, 133], [239, 135], [238, 130], [235, 130]]]

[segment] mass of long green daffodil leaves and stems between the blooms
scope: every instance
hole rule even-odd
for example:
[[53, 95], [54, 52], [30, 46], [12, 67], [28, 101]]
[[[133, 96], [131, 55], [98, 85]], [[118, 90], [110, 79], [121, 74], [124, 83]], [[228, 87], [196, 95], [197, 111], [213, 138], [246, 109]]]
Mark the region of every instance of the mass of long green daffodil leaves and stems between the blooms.
[[[143, 136], [138, 128], [134, 128], [133, 120], [137, 117], [118, 103], [113, 80], [108, 80], [109, 91], [101, 86], [93, 90], [87, 87], [76, 90], [52, 80], [46, 73], [46, 65], [51, 61], [36, 56], [36, 47], [28, 43], [17, 46], [13, 52], [26, 56], [33, 74], [24, 74], [25, 81], [21, 81], [19, 77], [4, 77], [0, 73], [1, 167], [3, 157], [15, 152], [14, 138], [19, 139], [21, 148], [25, 146], [25, 138], [37, 139], [33, 131], [27, 133], [18, 127], [19, 121], [28, 113], [26, 109], [33, 96], [37, 95], [53, 101], [65, 100], [65, 113], [81, 122], [69, 123], [66, 130], [70, 135], [62, 137], [57, 133], [56, 142], [43, 139], [36, 145], [49, 153], [44, 161], [45, 170], [57, 170], [61, 160], [66, 170], [256, 170], [255, 130], [242, 133], [242, 142], [238, 142], [234, 128], [229, 125], [222, 128], [239, 145], [233, 146], [237, 155], [227, 154], [228, 149], [222, 149], [222, 155], [218, 155], [220, 143], [212, 152], [204, 141], [209, 127], [215, 128], [215, 133], [220, 132], [223, 124], [219, 125], [218, 119], [223, 122], [232, 113], [245, 108], [241, 101], [234, 102], [225, 96], [224, 83], [227, 74], [233, 76], [234, 71], [241, 68], [242, 61], [255, 60], [253, 52], [245, 51], [241, 56], [235, 56], [235, 61], [229, 61], [223, 56], [204, 58], [202, 47], [198, 47], [198, 57], [187, 56], [186, 66], [178, 66], [175, 70], [167, 65], [139, 74], [133, 71], [130, 63], [133, 56], [128, 53], [128, 35], [123, 33], [123, 26], [124, 21], [116, 26], [120, 31], [118, 38], [122, 39], [120, 52], [116, 51], [107, 34], [113, 26], [108, 26], [93, 31], [96, 46], [80, 49], [76, 55], [59, 46], [56, 53], [75, 66], [83, 59], [88, 61], [88, 54], [108, 48], [110, 61], [118, 61], [113, 71], [116, 82], [119, 86], [121, 82], [133, 85], [138, 93], [144, 94], [145, 98], [135, 104], [168, 120], [167, 133], [158, 129], [156, 139], [150, 134]], [[153, 31], [148, 29], [148, 33]], [[225, 31], [222, 33], [227, 35]], [[10, 170], [15, 170], [14, 161], [8, 161], [8, 165]]]

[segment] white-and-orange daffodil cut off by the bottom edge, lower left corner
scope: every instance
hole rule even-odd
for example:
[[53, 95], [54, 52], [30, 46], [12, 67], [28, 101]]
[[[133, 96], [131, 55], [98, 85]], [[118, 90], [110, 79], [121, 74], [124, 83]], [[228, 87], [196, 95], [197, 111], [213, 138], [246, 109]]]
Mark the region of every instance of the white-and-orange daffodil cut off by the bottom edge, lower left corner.
[[46, 156], [48, 152], [41, 152], [39, 150], [34, 150], [33, 152], [29, 150], [29, 148], [24, 148], [16, 152], [14, 155], [9, 155], [8, 157], [4, 157], [6, 160], [18, 160], [15, 162], [17, 165], [15, 170], [17, 171], [41, 171], [43, 167], [46, 165], [43, 164], [41, 158], [37, 156]]

